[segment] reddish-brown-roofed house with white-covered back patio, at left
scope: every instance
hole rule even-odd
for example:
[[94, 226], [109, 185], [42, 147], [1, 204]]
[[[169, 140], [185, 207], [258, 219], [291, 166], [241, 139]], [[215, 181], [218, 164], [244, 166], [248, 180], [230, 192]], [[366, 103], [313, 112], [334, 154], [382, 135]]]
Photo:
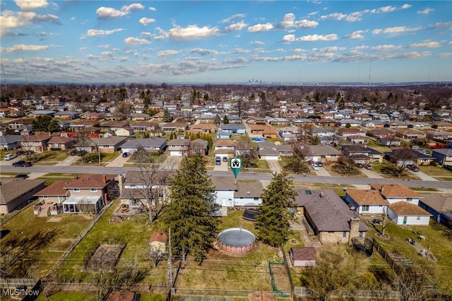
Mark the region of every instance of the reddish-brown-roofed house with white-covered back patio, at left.
[[98, 213], [116, 195], [115, 175], [83, 175], [65, 182], [69, 197], [63, 201], [65, 213]]

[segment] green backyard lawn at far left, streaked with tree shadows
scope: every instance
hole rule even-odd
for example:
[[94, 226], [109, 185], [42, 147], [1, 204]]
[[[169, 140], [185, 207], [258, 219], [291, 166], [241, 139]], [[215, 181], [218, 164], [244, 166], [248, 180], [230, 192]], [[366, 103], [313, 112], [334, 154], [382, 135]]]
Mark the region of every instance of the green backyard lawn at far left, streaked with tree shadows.
[[[61, 220], [50, 222], [51, 218], [61, 218]], [[76, 214], [60, 213], [58, 216], [38, 217], [33, 214], [33, 206], [29, 206], [1, 225], [2, 231], [9, 232], [2, 237], [0, 246], [1, 249], [5, 249], [12, 243], [21, 241], [26, 245], [19, 246], [19, 248], [28, 249], [30, 244], [37, 243], [27, 240], [28, 238], [37, 233], [49, 235], [46, 240], [39, 242], [39, 247], [27, 255], [32, 256], [33, 259], [32, 266], [28, 266], [28, 273], [32, 273], [32, 278], [42, 277], [52, 268], [64, 251], [61, 248], [52, 250], [52, 247], [60, 244], [62, 240], [75, 239], [88, 223], [90, 223], [88, 218]], [[37, 239], [39, 240], [39, 237]]]

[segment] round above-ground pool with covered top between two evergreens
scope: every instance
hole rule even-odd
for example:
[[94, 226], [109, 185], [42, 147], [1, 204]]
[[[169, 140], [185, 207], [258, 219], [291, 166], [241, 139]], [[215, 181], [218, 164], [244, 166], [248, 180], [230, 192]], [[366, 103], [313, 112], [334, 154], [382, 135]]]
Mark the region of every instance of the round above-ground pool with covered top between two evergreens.
[[218, 247], [225, 252], [244, 254], [256, 245], [253, 233], [242, 228], [229, 228], [218, 234]]

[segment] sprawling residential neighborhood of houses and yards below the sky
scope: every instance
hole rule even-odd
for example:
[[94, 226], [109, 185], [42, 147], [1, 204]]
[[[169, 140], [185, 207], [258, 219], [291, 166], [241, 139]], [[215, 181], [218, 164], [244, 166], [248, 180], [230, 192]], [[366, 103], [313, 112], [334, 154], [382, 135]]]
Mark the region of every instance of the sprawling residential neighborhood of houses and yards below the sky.
[[[234, 297], [249, 300], [260, 290], [304, 300], [309, 294], [300, 291], [314, 288], [299, 276], [320, 266], [325, 254], [341, 252], [347, 254], [343, 258], [371, 258], [394, 273], [399, 271], [396, 257], [413, 266], [425, 260], [444, 273], [452, 256], [452, 97], [441, 90], [444, 101], [432, 107], [431, 92], [415, 88], [400, 88], [403, 103], [388, 101], [390, 87], [155, 85], [124, 88], [119, 98], [106, 86], [95, 86], [89, 92], [93, 101], [78, 100], [69, 90], [2, 98], [2, 256], [20, 254], [12, 240], [32, 240], [28, 233], [34, 229], [39, 235], [56, 233], [36, 246], [43, 253], [29, 255], [43, 261], [54, 256], [52, 261], [37, 266], [30, 277], [26, 273], [31, 270], [25, 273], [16, 265], [2, 269], [1, 278], [51, 283], [53, 274], [83, 274], [83, 281], [93, 284], [88, 266], [97, 252], [107, 252], [102, 247], [112, 256], [110, 272], [119, 273], [115, 268], [133, 258], [137, 266], [150, 268], [130, 292], [165, 297], [189, 289], [218, 297], [221, 290], [237, 289]], [[144, 99], [142, 91], [153, 98]], [[379, 107], [357, 97], [362, 93], [378, 95]], [[193, 160], [201, 160], [196, 161], [199, 170], [189, 169]], [[238, 168], [232, 160], [239, 160]], [[206, 182], [198, 184], [201, 180]], [[285, 184], [270, 193], [278, 181]], [[209, 211], [182, 221], [189, 227], [213, 218], [217, 236], [211, 242], [206, 238], [206, 249], [194, 252], [190, 244], [182, 252], [184, 240], [178, 238], [179, 229], [167, 227], [167, 212], [179, 197], [188, 203], [177, 203], [177, 211], [201, 210], [190, 202], [203, 189]], [[282, 216], [275, 216], [281, 222], [287, 213], [290, 220], [278, 229], [266, 224], [268, 231], [287, 230], [281, 244], [272, 244], [261, 219], [268, 218], [266, 206], [279, 194], [291, 201]], [[222, 237], [234, 232], [241, 237], [238, 245], [226, 246]], [[250, 263], [247, 256], [253, 252], [263, 256], [263, 266]], [[246, 284], [227, 286], [209, 273], [219, 268], [223, 275], [224, 265], [246, 266], [247, 278], [252, 278], [251, 269], [265, 272]], [[275, 278], [268, 268], [283, 276]], [[190, 273], [203, 285], [191, 281]], [[452, 279], [425, 279], [441, 292], [437, 300], [452, 294], [447, 281]], [[389, 293], [401, 294], [393, 283], [385, 285]], [[128, 291], [122, 288], [109, 295]], [[364, 285], [357, 289], [370, 291]], [[47, 290], [44, 285], [42, 292]]]

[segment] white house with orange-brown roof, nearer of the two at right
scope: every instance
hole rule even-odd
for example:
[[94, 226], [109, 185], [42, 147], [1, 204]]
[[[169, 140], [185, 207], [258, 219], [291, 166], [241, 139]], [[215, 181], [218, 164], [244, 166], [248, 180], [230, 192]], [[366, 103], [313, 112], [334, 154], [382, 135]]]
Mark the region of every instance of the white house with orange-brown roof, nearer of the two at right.
[[388, 217], [397, 225], [429, 225], [430, 216], [420, 206], [406, 201], [398, 201], [389, 205]]

